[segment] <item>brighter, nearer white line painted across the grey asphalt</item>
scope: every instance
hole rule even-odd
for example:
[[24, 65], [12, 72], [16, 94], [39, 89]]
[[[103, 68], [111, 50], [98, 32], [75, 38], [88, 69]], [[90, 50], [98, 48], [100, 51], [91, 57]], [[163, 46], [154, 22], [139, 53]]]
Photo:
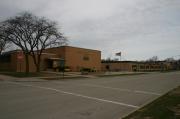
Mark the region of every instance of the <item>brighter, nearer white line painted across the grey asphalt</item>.
[[112, 104], [116, 104], [116, 105], [122, 105], [122, 106], [126, 106], [126, 107], [131, 107], [131, 108], [139, 108], [139, 106], [135, 106], [135, 105], [131, 105], [131, 104], [126, 104], [126, 103], [121, 103], [121, 102], [116, 102], [116, 101], [111, 101], [111, 100], [105, 100], [105, 99], [96, 98], [96, 97], [89, 97], [86, 95], [66, 92], [66, 91], [58, 90], [58, 89], [54, 89], [54, 88], [48, 88], [48, 87], [42, 87], [42, 86], [33, 86], [33, 85], [28, 85], [28, 84], [16, 83], [16, 82], [8, 82], [8, 83], [17, 84], [17, 85], [26, 86], [26, 87], [35, 87], [35, 88], [40, 88], [40, 89], [45, 89], [45, 90], [52, 90], [52, 91], [56, 91], [56, 92], [63, 93], [63, 94], [73, 95], [73, 96], [82, 97], [82, 98], [91, 99], [91, 100], [96, 100], [96, 101], [101, 101], [101, 102], [112, 103]]

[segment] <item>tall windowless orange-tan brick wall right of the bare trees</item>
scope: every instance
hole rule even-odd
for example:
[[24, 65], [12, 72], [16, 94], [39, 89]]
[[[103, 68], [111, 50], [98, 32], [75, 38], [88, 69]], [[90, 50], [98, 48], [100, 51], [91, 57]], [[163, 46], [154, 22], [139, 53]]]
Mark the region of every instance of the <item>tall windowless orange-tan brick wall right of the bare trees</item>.
[[80, 71], [82, 68], [101, 70], [101, 52], [75, 47], [65, 47], [65, 64], [72, 71]]

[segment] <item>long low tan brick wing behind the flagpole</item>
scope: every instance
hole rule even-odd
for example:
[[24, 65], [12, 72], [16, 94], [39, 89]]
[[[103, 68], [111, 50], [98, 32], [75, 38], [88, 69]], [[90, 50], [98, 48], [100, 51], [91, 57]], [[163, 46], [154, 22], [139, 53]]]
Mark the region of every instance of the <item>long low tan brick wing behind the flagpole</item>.
[[172, 64], [165, 61], [102, 61], [102, 71], [164, 71], [173, 70]]

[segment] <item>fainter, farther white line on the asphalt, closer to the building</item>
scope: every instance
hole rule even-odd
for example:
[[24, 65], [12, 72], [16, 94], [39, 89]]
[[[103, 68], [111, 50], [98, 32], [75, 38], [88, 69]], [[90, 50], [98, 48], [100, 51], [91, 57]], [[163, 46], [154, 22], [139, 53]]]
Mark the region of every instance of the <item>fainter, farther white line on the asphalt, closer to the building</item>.
[[[64, 82], [55, 82], [55, 83], [63, 83]], [[76, 83], [71, 83], [74, 85], [81, 85], [81, 86], [89, 86], [89, 87], [97, 87], [97, 88], [106, 88], [106, 89], [111, 89], [111, 90], [118, 90], [118, 91], [126, 91], [126, 92], [133, 92], [133, 93], [141, 93], [141, 94], [148, 94], [148, 95], [161, 95], [159, 93], [154, 93], [154, 92], [149, 92], [149, 91], [141, 91], [141, 90], [130, 90], [130, 89], [122, 89], [122, 88], [113, 88], [109, 86], [102, 86], [102, 85], [94, 85], [94, 84], [76, 84]]]

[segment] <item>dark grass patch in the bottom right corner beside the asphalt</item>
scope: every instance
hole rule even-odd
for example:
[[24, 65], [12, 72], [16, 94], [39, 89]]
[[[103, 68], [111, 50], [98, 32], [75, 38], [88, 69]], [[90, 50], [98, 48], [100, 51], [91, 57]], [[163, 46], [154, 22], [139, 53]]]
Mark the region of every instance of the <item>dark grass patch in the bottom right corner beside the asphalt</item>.
[[180, 119], [180, 86], [123, 119]]

